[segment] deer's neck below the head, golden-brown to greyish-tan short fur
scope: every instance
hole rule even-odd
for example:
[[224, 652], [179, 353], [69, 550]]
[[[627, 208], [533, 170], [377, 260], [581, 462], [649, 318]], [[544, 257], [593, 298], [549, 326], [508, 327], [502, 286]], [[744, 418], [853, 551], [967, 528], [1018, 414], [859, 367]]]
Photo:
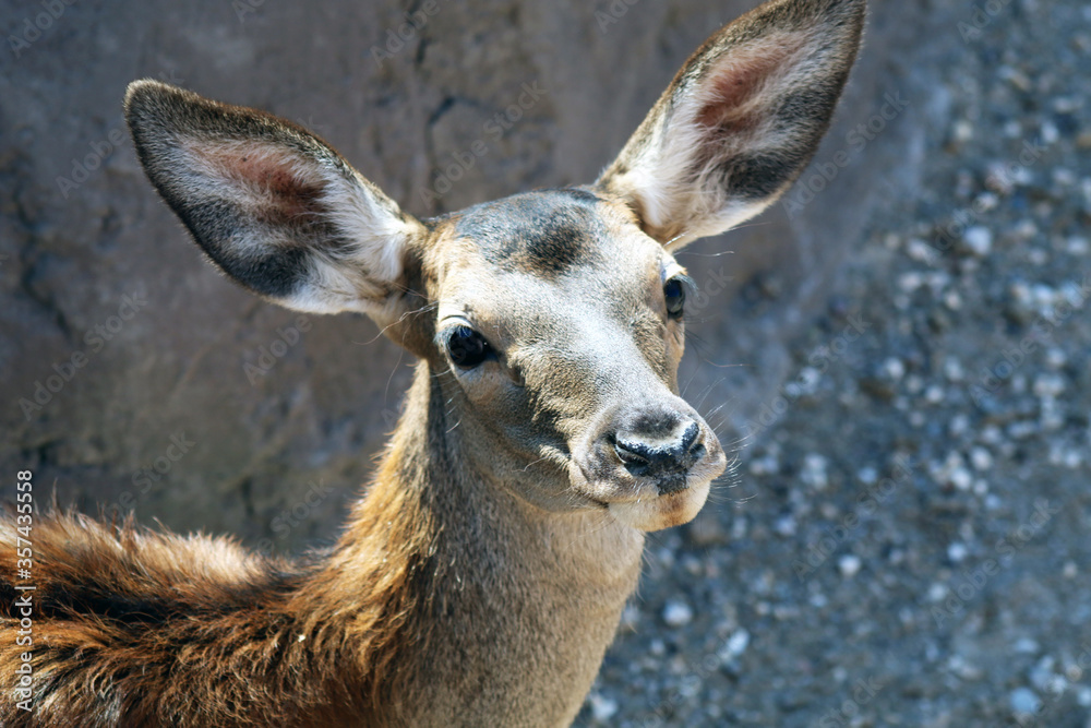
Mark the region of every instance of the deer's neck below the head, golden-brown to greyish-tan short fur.
[[345, 660], [334, 673], [351, 669], [341, 699], [377, 706], [377, 725], [526, 711], [563, 724], [635, 588], [643, 534], [606, 513], [542, 511], [473, 473], [446, 401], [420, 362], [375, 481], [299, 613]]

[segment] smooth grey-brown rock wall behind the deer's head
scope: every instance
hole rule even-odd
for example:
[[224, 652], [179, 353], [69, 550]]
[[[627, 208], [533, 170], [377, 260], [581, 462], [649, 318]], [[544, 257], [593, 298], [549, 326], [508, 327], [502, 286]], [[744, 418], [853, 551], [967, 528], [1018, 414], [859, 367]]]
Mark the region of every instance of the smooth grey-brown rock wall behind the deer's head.
[[[399, 48], [393, 0], [0, 3], [0, 473], [32, 468], [86, 510], [298, 549], [332, 538], [408, 381], [409, 356], [369, 320], [276, 309], [201, 260], [136, 163], [129, 81], [297, 120], [428, 215], [590, 181], [688, 53], [753, 4], [440, 1]], [[824, 188], [813, 201], [793, 193], [682, 256], [711, 294], [682, 381], [703, 410], [722, 406], [724, 438], [775, 401], [786, 342], [920, 175], [928, 79], [900, 59], [926, 50], [927, 17], [923, 0], [875, 3], [804, 176]], [[849, 136], [897, 93], [914, 103], [874, 140]], [[248, 370], [278, 338], [275, 366]], [[728, 363], [746, 366], [712, 366]]]

